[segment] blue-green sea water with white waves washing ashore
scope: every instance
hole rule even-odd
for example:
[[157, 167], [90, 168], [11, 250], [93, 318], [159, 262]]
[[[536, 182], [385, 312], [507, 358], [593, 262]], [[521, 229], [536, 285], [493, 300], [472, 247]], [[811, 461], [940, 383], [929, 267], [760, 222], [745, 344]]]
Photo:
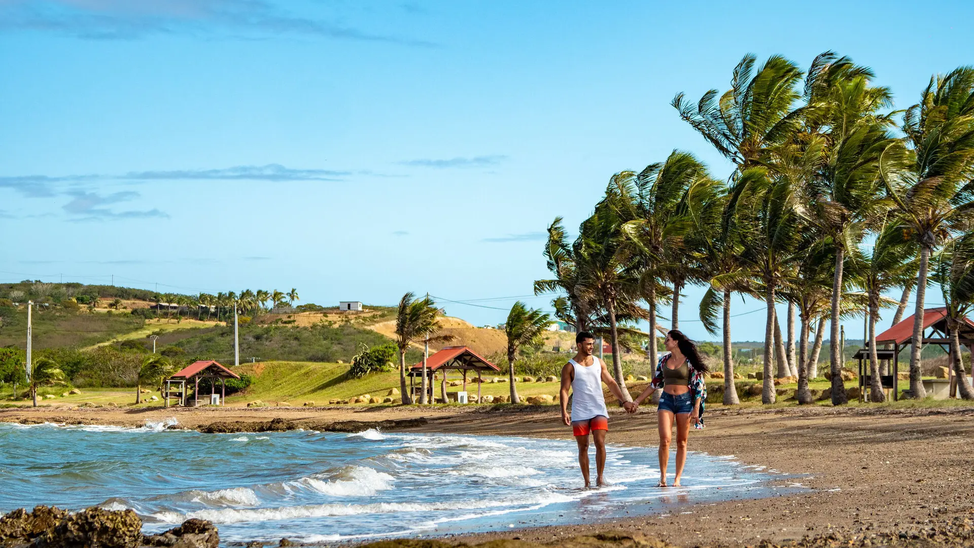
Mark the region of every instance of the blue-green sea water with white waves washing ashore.
[[[173, 423], [0, 423], [0, 512], [36, 504], [131, 508], [145, 532], [201, 518], [216, 524], [224, 543], [328, 542], [666, 515], [674, 505], [782, 489], [768, 485], [780, 476], [761, 467], [696, 452], [685, 487], [657, 489], [656, 448], [611, 445], [613, 485], [581, 489], [574, 441], [166, 430]], [[672, 457], [670, 466], [672, 473]]]

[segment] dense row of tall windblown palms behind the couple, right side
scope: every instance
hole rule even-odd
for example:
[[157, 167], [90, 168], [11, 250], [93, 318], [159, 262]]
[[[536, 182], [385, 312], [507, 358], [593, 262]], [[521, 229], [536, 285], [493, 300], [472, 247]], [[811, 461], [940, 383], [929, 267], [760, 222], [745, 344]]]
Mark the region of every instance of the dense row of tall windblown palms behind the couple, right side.
[[[613, 371], [624, 388], [620, 340], [640, 334], [632, 328], [638, 320], [656, 333], [659, 305], [671, 305], [671, 329], [678, 329], [682, 290], [707, 287], [699, 315], [716, 333], [723, 312], [726, 404], [737, 403], [733, 294], [767, 305], [764, 403], [775, 400], [775, 374], [797, 376], [799, 402], [811, 402], [808, 378], [817, 374], [830, 323], [838, 405], [846, 401], [835, 343], [841, 320], [868, 314], [870, 396], [882, 401], [883, 365], [875, 352], [880, 308], [897, 306], [897, 323], [914, 291], [910, 394], [925, 395], [923, 305], [928, 283], [936, 282], [947, 303], [961, 396], [974, 397], [958, 341], [974, 302], [974, 68], [932, 77], [904, 111], [890, 111], [892, 94], [874, 78], [870, 68], [832, 52], [807, 71], [779, 56], [759, 66], [748, 55], [726, 92], [711, 90], [697, 101], [678, 94], [672, 105], [679, 116], [731, 161], [731, 176], [717, 179], [679, 150], [642, 172], [618, 173], [578, 238], [569, 241], [561, 217], [548, 227], [544, 256], [553, 275], [537, 281], [535, 293], [562, 294], [552, 302], [558, 319], [610, 338]], [[898, 301], [883, 296], [896, 289], [903, 292]], [[775, 314], [779, 302], [788, 306], [787, 344]], [[648, 339], [655, 356], [656, 336]]]

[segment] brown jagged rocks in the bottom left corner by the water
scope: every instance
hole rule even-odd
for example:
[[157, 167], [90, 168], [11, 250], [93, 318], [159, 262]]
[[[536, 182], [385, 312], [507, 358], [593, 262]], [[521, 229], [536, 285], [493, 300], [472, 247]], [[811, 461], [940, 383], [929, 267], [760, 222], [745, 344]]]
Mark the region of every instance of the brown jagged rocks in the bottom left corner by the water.
[[22, 508], [0, 517], [0, 545], [30, 548], [216, 548], [213, 524], [187, 520], [162, 534], [142, 535], [142, 520], [131, 510], [93, 507], [69, 513], [54, 506]]

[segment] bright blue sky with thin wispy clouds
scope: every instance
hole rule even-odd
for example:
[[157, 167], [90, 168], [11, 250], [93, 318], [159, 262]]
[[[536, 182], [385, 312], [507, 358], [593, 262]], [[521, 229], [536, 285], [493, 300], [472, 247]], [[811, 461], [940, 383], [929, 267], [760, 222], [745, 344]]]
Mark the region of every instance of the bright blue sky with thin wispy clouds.
[[[676, 93], [726, 89], [746, 53], [831, 49], [905, 107], [974, 63], [972, 20], [936, 1], [0, 0], [0, 279], [529, 295], [545, 226], [576, 227], [614, 173], [674, 148], [730, 173]], [[700, 294], [681, 327], [711, 339]], [[512, 301], [442, 303], [479, 325]]]

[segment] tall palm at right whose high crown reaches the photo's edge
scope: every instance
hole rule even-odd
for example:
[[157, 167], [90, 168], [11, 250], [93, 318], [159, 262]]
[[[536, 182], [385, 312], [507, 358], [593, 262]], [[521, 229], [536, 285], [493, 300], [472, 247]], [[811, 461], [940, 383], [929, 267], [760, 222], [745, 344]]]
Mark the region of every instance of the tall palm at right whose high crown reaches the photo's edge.
[[923, 398], [919, 367], [930, 255], [953, 232], [969, 229], [974, 215], [974, 67], [930, 78], [920, 101], [904, 114], [902, 130], [912, 148], [911, 165], [901, 169], [903, 151], [890, 147], [883, 156], [882, 178], [904, 228], [919, 243], [910, 395]]

